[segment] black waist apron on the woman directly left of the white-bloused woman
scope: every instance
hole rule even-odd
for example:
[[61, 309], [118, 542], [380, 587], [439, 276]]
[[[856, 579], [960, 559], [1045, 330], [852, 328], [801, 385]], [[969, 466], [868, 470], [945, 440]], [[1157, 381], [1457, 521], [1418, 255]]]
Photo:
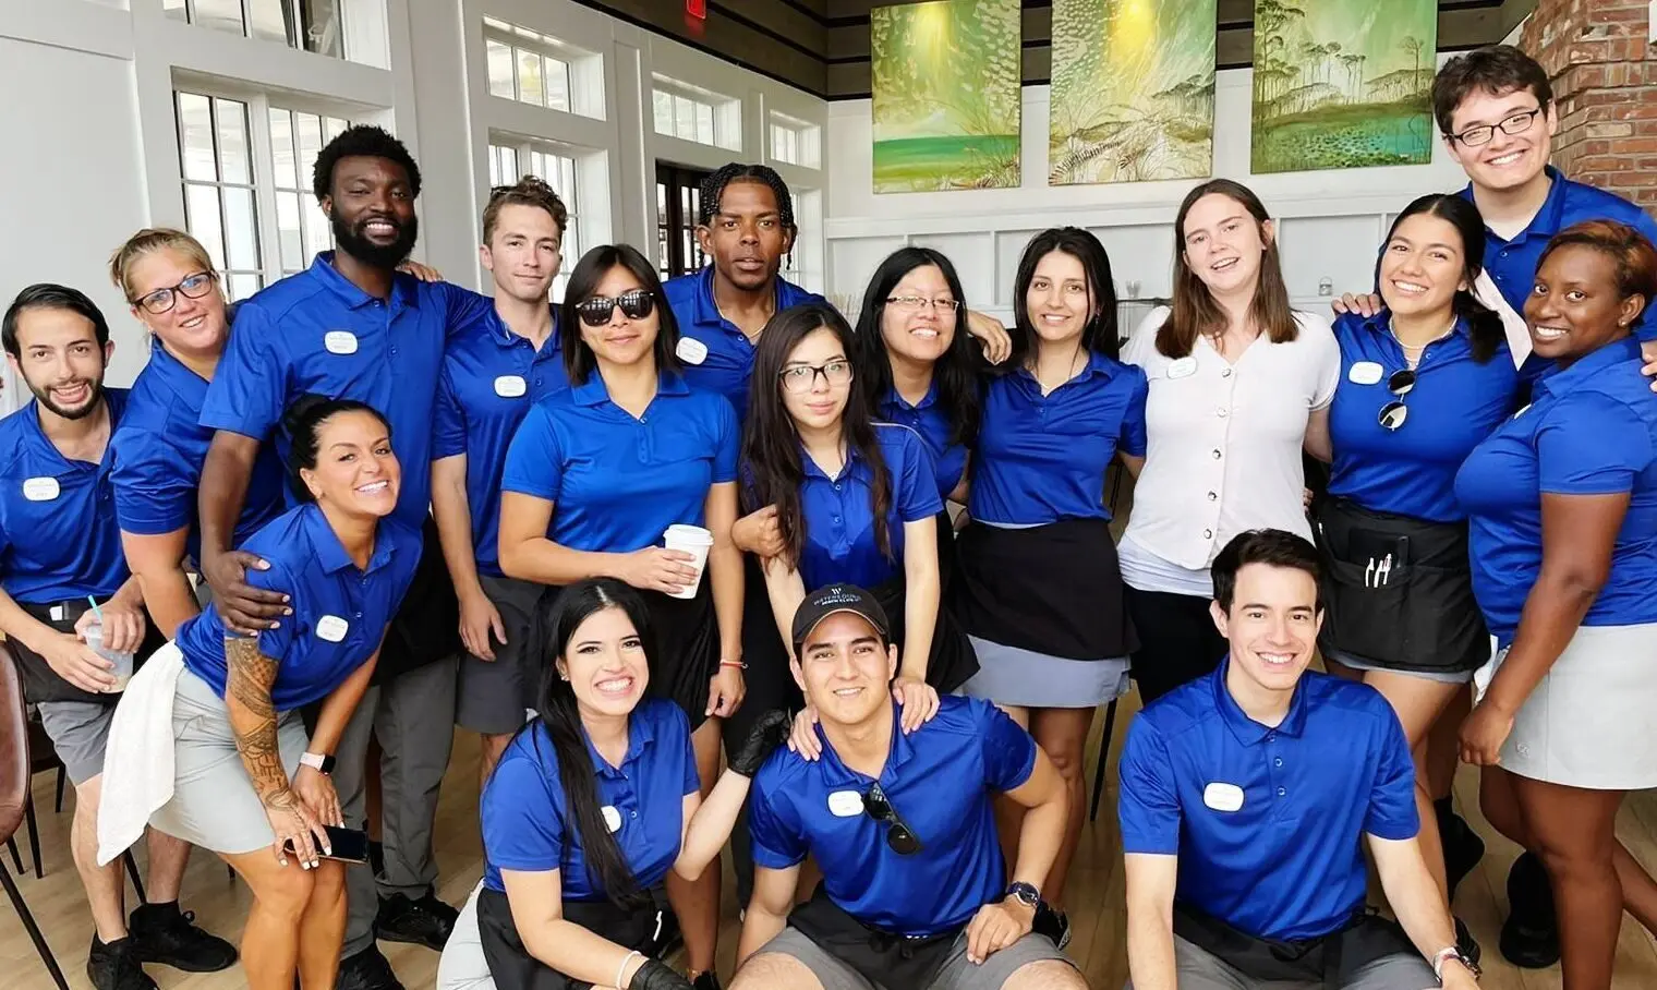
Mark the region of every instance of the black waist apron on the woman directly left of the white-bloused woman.
[[971, 522], [961, 531], [954, 612], [979, 638], [1067, 660], [1138, 648], [1117, 544], [1105, 519], [1027, 529]]

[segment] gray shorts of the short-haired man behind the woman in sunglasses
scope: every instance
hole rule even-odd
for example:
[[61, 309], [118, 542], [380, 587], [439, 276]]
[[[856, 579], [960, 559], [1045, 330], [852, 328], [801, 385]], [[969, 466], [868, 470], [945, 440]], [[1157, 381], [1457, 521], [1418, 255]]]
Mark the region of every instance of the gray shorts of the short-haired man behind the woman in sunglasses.
[[524, 725], [524, 710], [535, 706], [540, 690], [550, 637], [547, 610], [558, 589], [489, 574], [481, 574], [479, 580], [500, 612], [507, 642], [495, 643], [494, 660], [461, 657], [454, 721], [474, 733], [515, 733]]

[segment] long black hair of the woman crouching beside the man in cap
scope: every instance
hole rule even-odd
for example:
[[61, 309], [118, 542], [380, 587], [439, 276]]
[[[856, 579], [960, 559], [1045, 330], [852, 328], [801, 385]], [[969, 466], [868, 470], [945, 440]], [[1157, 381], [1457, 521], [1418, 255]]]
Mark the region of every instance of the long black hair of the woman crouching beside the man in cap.
[[645, 648], [645, 657], [656, 655], [650, 610], [645, 609], [645, 600], [636, 590], [611, 577], [578, 580], [565, 587], [552, 607], [548, 622], [552, 643], [545, 670], [540, 675], [537, 715], [540, 723], [547, 726], [553, 755], [558, 759], [567, 819], [575, 824], [582, 851], [587, 854], [587, 879], [601, 889], [611, 904], [630, 909], [643, 905], [648, 895], [638, 889], [633, 867], [621, 856], [621, 846], [616, 844], [610, 826], [605, 824], [603, 801], [598, 798], [598, 774], [593, 771], [587, 730], [582, 726], [582, 713], [575, 705], [575, 688], [558, 675], [557, 663], [570, 648], [575, 630], [605, 609], [626, 612], [633, 622], [633, 632], [638, 633], [640, 645]]

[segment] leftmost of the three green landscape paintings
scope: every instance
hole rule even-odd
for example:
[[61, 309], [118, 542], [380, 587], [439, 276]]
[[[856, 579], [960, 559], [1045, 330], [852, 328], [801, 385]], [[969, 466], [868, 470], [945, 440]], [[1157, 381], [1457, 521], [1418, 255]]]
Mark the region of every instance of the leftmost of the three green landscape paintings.
[[870, 13], [875, 192], [1019, 184], [1019, 0]]

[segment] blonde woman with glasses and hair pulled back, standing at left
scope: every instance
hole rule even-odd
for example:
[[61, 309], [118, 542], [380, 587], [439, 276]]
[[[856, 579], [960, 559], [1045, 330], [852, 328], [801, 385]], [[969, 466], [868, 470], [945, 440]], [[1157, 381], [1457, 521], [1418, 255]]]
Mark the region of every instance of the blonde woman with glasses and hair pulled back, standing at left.
[[[144, 607], [172, 637], [200, 612], [184, 559], [200, 554], [196, 486], [212, 429], [197, 420], [230, 338], [229, 307], [207, 250], [182, 231], [133, 234], [109, 259], [109, 277], [151, 335], [149, 363], [109, 441], [114, 511]], [[282, 461], [265, 446], [247, 483], [237, 546], [282, 512]]]

